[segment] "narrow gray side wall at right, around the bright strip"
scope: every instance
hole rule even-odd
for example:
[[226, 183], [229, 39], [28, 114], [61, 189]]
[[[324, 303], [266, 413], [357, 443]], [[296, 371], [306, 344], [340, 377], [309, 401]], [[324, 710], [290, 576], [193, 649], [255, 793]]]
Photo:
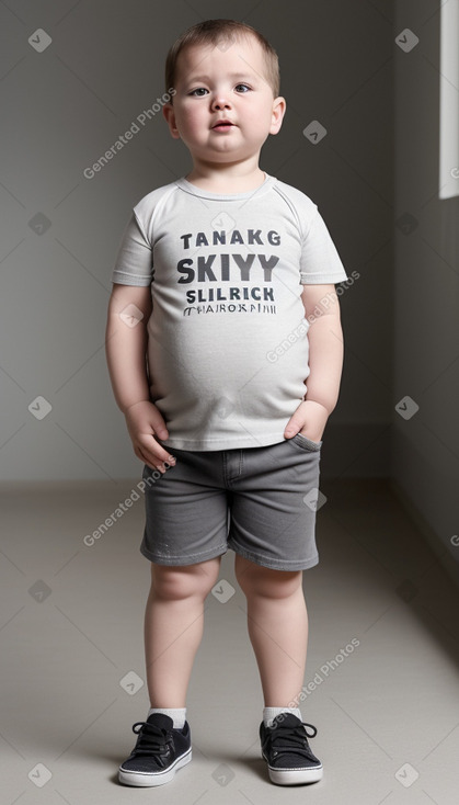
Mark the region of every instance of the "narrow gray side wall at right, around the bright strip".
[[418, 410], [408, 420], [393, 411], [391, 477], [459, 579], [459, 199], [438, 197], [439, 5], [395, 10], [397, 32], [420, 43], [394, 58], [393, 400], [408, 395]]

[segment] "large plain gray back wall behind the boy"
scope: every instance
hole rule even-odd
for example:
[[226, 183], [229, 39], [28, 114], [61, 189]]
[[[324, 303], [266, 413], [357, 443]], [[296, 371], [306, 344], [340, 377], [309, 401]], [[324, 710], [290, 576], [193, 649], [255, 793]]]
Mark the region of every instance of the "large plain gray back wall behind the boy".
[[[341, 297], [345, 371], [323, 474], [389, 472], [391, 3], [16, 0], [0, 4], [0, 479], [141, 470], [105, 366], [110, 275], [131, 206], [191, 163], [156, 114], [93, 179], [83, 170], [163, 93], [170, 43], [210, 16], [243, 19], [277, 48], [288, 111], [261, 166], [313, 199], [360, 274]], [[51, 37], [42, 53], [27, 42], [37, 29]], [[328, 129], [318, 145], [302, 134], [313, 120]], [[37, 397], [51, 406], [41, 420]]]

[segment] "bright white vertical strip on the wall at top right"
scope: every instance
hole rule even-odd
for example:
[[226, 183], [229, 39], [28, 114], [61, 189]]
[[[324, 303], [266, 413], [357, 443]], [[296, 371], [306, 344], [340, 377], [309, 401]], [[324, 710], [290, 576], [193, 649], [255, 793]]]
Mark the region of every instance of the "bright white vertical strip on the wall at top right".
[[459, 195], [459, 0], [441, 5], [439, 197]]

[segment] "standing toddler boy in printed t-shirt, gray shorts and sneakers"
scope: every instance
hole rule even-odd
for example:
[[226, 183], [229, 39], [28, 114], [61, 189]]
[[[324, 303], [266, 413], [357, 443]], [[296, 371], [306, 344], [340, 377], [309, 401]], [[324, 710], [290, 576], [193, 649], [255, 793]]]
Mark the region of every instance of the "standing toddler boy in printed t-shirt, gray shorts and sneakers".
[[259, 167], [286, 110], [269, 43], [232, 20], [198, 23], [171, 47], [165, 86], [163, 114], [193, 168], [134, 207], [106, 332], [115, 399], [144, 463], [140, 551], [151, 563], [150, 708], [118, 778], [160, 785], [192, 758], [186, 691], [204, 602], [231, 548], [269, 779], [311, 783], [322, 764], [298, 707], [302, 571], [319, 562], [320, 452], [343, 363], [334, 283], [347, 276], [317, 205]]

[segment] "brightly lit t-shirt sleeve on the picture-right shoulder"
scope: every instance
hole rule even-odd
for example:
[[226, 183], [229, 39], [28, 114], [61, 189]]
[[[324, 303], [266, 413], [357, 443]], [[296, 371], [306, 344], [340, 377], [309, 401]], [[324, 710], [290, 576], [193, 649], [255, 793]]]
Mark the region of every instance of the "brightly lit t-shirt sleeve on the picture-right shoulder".
[[302, 285], [335, 283], [347, 280], [340, 254], [315, 207], [301, 249], [300, 282]]

